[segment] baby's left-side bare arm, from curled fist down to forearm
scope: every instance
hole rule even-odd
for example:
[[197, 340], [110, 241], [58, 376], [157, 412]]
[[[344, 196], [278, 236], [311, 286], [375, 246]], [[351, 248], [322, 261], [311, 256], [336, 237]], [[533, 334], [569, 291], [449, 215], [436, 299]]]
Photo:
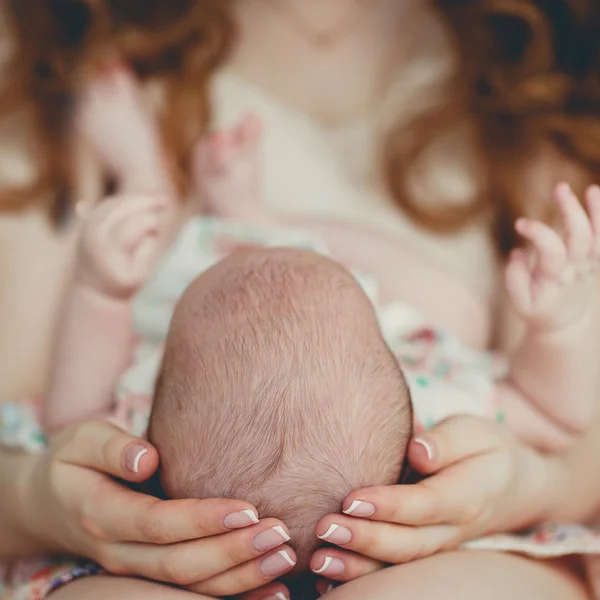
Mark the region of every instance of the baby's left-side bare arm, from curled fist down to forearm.
[[43, 418], [50, 431], [109, 411], [132, 349], [131, 299], [154, 266], [165, 206], [124, 195], [90, 214], [57, 335]]

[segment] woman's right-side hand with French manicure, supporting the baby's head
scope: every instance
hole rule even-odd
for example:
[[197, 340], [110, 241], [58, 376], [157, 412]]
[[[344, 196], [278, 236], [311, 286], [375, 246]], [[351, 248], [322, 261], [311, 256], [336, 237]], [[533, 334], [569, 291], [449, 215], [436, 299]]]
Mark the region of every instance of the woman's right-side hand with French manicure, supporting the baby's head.
[[544, 520], [560, 496], [558, 462], [483, 419], [445, 421], [413, 439], [408, 454], [415, 470], [433, 476], [350, 494], [345, 515], [328, 515], [317, 526], [321, 539], [341, 549], [317, 550], [314, 572], [349, 581], [386, 563], [525, 527]]

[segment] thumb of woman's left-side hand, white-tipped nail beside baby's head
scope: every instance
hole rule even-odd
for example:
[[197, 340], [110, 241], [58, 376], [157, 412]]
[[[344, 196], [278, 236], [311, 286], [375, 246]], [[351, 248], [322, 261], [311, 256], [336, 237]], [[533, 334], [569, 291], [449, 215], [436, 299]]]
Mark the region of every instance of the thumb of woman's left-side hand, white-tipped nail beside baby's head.
[[53, 439], [51, 447], [62, 462], [131, 482], [145, 481], [158, 467], [158, 452], [152, 444], [108, 421], [68, 427]]

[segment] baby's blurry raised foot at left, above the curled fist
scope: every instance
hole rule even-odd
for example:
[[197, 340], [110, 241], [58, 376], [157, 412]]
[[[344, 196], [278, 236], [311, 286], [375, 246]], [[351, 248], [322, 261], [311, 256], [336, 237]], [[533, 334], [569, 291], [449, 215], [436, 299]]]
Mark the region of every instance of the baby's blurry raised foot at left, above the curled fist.
[[88, 83], [78, 125], [122, 191], [169, 189], [157, 121], [143, 105], [139, 83], [125, 68], [106, 67]]

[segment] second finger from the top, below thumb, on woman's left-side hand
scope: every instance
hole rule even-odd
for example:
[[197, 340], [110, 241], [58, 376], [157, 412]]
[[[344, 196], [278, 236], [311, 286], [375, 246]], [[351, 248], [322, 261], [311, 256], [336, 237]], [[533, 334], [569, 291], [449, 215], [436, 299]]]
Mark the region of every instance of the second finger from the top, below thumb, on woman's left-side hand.
[[[134, 574], [181, 586], [192, 586], [198, 581], [209, 581], [225, 571], [233, 570], [273, 548], [279, 549], [285, 538], [273, 535], [275, 527], [283, 530], [281, 522], [265, 519], [247, 529], [179, 544], [115, 544], [109, 548], [110, 556], [106, 557], [102, 565], [116, 575]], [[105, 562], [108, 564], [104, 564]], [[252, 587], [274, 578], [263, 577]], [[248, 589], [251, 587], [232, 593]], [[208, 590], [195, 591], [211, 595]]]

